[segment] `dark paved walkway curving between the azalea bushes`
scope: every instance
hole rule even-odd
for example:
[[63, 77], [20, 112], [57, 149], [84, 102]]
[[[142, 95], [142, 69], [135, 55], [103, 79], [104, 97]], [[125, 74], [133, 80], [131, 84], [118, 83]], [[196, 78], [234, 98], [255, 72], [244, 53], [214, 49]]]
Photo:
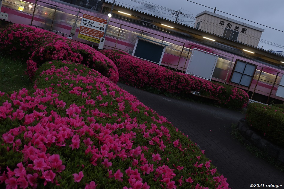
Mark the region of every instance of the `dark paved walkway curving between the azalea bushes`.
[[279, 188], [284, 189], [284, 173], [254, 157], [230, 134], [232, 123], [244, 118], [244, 114], [117, 84], [166, 117], [173, 126], [205, 150], [206, 157], [227, 178], [232, 189], [250, 188], [250, 184], [280, 184], [282, 186]]

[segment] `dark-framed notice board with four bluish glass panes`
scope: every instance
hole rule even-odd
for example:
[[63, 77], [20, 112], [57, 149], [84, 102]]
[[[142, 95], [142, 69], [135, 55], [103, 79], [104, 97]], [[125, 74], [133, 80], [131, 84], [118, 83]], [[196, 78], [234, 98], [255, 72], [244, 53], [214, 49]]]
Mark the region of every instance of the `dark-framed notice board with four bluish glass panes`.
[[256, 70], [256, 65], [243, 61], [236, 61], [232, 72], [231, 82], [249, 87]]

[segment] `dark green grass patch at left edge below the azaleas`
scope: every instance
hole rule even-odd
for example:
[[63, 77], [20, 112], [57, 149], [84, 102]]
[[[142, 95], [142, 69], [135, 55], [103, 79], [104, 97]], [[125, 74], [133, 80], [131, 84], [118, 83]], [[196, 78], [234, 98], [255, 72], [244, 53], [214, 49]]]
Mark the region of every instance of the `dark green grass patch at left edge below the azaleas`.
[[20, 60], [12, 60], [0, 57], [0, 91], [13, 92], [19, 89], [32, 89], [33, 83], [25, 73], [26, 63]]

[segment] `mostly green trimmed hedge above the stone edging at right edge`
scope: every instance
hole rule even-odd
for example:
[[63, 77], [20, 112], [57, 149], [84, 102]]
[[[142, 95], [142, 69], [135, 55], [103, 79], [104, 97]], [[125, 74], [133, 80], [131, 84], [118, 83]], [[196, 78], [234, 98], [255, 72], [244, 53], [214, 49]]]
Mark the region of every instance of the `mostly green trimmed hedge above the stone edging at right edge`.
[[247, 107], [246, 121], [259, 135], [280, 147], [284, 147], [283, 108], [261, 103], [250, 103]]

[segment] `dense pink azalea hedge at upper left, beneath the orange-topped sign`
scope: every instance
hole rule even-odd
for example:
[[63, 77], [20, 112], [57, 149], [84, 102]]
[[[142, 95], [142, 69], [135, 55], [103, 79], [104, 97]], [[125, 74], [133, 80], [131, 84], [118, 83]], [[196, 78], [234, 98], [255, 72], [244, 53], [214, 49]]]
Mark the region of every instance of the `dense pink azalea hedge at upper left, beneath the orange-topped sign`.
[[114, 83], [118, 81], [116, 65], [99, 51], [72, 39], [32, 26], [13, 24], [1, 28], [0, 52], [27, 60], [28, 74], [31, 77], [46, 61], [66, 60], [88, 65]]

